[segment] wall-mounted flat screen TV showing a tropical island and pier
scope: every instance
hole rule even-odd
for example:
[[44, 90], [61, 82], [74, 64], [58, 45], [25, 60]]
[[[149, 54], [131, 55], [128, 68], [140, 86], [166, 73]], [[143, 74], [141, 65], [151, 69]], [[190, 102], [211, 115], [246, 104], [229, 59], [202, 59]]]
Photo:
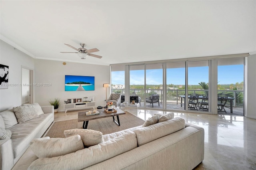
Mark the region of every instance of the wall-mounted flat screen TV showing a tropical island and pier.
[[65, 75], [65, 91], [94, 90], [93, 76]]

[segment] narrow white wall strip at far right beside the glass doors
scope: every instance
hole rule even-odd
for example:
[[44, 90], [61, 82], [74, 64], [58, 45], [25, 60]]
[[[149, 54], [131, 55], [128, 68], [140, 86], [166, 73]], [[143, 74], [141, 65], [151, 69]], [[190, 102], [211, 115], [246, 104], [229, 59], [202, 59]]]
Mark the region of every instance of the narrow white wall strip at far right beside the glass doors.
[[249, 55], [247, 64], [247, 111], [245, 116], [256, 119], [256, 54]]

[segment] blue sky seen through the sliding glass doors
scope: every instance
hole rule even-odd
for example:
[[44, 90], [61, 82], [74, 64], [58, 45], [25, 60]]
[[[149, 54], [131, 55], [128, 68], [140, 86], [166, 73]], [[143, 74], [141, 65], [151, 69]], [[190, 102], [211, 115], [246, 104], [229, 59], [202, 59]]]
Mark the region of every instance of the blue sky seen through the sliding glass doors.
[[[167, 69], [167, 84], [184, 85], [185, 68]], [[130, 84], [144, 84], [144, 70], [130, 71]], [[162, 69], [146, 70], [146, 84], [162, 84]], [[189, 67], [188, 84], [198, 85], [201, 81], [208, 83], [208, 67]], [[243, 65], [223, 65], [218, 66], [218, 84], [235, 84], [244, 81]], [[112, 84], [124, 84], [124, 71], [112, 72]]]

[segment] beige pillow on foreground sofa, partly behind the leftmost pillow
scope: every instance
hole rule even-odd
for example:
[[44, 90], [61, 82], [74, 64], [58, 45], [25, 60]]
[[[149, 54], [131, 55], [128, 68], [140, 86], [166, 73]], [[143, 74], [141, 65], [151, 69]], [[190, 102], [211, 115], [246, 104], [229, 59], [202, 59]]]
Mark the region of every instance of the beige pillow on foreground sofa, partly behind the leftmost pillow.
[[79, 134], [84, 143], [84, 146], [89, 147], [103, 142], [102, 132], [91, 129], [70, 129], [64, 130], [65, 137]]

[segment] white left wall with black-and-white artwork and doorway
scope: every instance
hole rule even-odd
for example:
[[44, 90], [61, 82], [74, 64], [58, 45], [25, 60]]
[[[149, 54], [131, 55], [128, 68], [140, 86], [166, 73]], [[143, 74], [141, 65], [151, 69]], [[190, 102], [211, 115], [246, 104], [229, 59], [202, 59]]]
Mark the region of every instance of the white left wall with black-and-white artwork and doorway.
[[9, 86], [8, 89], [0, 89], [0, 111], [5, 111], [21, 105], [21, 66], [34, 69], [34, 59], [2, 40], [0, 49], [0, 63], [9, 66], [8, 83], [18, 84]]

